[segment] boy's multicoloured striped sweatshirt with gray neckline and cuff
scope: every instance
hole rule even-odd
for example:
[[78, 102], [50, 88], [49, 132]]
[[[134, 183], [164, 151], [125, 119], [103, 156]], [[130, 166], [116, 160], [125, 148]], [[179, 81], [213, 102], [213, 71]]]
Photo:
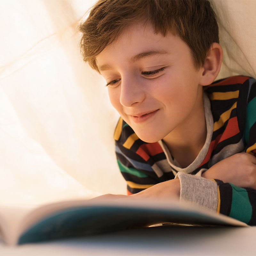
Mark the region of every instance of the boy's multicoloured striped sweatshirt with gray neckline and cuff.
[[236, 153], [256, 155], [256, 80], [233, 76], [206, 86], [204, 111], [206, 141], [186, 168], [181, 168], [172, 158], [164, 141], [144, 142], [122, 118], [119, 119], [114, 139], [117, 163], [127, 182], [127, 194], [178, 177], [180, 200], [256, 225], [256, 190], [201, 176], [212, 165]]

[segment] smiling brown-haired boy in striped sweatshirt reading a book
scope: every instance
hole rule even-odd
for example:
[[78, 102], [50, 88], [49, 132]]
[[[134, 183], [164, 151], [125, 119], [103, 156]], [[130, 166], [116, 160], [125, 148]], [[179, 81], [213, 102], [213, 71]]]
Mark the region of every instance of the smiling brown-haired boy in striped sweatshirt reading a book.
[[80, 31], [121, 116], [128, 195], [180, 198], [255, 225], [256, 81], [214, 82], [223, 52], [210, 2], [100, 0]]

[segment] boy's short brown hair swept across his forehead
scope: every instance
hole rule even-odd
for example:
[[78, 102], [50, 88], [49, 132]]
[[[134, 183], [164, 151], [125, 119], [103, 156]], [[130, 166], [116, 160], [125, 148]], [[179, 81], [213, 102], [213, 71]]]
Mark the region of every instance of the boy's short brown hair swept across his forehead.
[[219, 29], [211, 3], [206, 0], [99, 0], [81, 22], [80, 49], [84, 61], [99, 72], [96, 57], [134, 22], [149, 21], [155, 33], [169, 31], [188, 45], [196, 68], [204, 66]]

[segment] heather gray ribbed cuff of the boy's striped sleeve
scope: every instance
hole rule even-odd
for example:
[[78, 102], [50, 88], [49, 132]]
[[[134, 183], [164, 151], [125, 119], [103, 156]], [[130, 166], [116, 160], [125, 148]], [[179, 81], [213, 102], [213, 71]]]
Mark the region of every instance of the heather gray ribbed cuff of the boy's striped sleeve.
[[180, 201], [217, 211], [218, 185], [215, 181], [182, 172], [178, 172], [175, 178], [180, 179]]

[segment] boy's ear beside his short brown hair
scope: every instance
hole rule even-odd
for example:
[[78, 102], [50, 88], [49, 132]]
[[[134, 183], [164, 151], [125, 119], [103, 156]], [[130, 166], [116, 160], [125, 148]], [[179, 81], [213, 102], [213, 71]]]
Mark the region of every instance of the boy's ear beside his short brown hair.
[[201, 85], [209, 85], [215, 80], [220, 72], [223, 51], [218, 43], [213, 43], [208, 56], [204, 61], [203, 73], [200, 79]]

